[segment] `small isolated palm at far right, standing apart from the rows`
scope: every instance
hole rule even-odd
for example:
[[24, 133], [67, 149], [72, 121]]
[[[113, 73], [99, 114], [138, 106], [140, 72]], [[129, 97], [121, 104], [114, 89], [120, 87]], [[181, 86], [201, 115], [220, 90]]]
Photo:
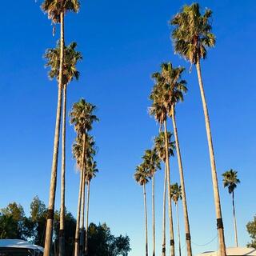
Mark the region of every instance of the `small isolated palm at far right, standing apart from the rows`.
[[232, 205], [233, 205], [233, 218], [234, 218], [234, 239], [235, 245], [238, 247], [238, 230], [237, 230], [237, 219], [235, 217], [234, 210], [234, 190], [237, 185], [240, 183], [238, 179], [238, 172], [236, 170], [230, 169], [227, 170], [223, 176], [223, 186], [228, 188], [229, 194], [232, 194]]

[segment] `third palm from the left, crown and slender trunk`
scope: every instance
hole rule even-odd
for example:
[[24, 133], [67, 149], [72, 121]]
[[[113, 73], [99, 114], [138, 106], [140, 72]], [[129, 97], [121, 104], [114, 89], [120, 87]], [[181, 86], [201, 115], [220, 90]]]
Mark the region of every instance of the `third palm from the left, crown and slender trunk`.
[[[74, 103], [72, 110], [70, 111], [70, 123], [74, 124], [74, 130], [77, 132], [78, 137], [82, 138], [82, 168], [86, 166], [86, 134], [92, 129], [92, 124], [98, 121], [97, 116], [94, 114], [96, 106], [86, 102], [83, 98]], [[83, 173], [83, 171], [82, 171]], [[79, 194], [78, 194], [78, 213], [77, 213], [77, 224], [75, 231], [75, 242], [74, 242], [74, 256], [78, 256], [79, 253], [79, 224], [80, 224], [80, 211], [81, 211], [81, 198], [82, 198], [82, 180], [83, 174], [81, 174]]]

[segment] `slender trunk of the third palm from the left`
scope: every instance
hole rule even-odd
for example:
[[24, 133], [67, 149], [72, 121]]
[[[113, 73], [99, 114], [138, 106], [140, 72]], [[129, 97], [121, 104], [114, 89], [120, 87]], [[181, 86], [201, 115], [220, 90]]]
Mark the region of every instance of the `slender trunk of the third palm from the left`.
[[86, 151], [86, 134], [82, 136], [82, 168], [80, 170], [80, 185], [79, 185], [79, 193], [78, 193], [78, 212], [77, 212], [77, 223], [75, 228], [75, 236], [74, 236], [74, 256], [78, 256], [79, 254], [79, 224], [80, 224], [80, 213], [81, 213], [81, 201], [82, 201], [82, 182], [84, 178], [84, 164], [85, 164], [85, 151]]

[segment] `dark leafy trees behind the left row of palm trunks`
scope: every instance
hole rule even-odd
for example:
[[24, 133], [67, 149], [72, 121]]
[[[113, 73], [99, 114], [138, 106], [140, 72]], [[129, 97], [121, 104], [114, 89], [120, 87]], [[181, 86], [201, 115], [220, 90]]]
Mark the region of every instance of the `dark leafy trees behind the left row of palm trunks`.
[[[46, 236], [47, 208], [38, 197], [30, 203], [30, 215], [17, 202], [11, 202], [0, 210], [0, 239], [23, 239], [39, 246], [44, 246]], [[60, 211], [54, 211], [53, 242], [51, 254], [59, 254]], [[74, 255], [74, 232], [76, 219], [66, 210], [66, 232], [64, 245], [66, 255]], [[110, 228], [103, 224], [90, 223], [88, 226], [88, 255], [92, 256], [126, 256], [130, 251], [130, 238], [127, 235], [114, 236]]]

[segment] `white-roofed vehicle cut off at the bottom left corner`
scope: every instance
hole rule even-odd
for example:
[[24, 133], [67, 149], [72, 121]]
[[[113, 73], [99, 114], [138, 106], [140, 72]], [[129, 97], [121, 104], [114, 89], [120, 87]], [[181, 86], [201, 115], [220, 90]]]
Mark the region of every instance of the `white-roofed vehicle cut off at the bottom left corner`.
[[42, 256], [43, 248], [19, 239], [0, 239], [0, 256]]

